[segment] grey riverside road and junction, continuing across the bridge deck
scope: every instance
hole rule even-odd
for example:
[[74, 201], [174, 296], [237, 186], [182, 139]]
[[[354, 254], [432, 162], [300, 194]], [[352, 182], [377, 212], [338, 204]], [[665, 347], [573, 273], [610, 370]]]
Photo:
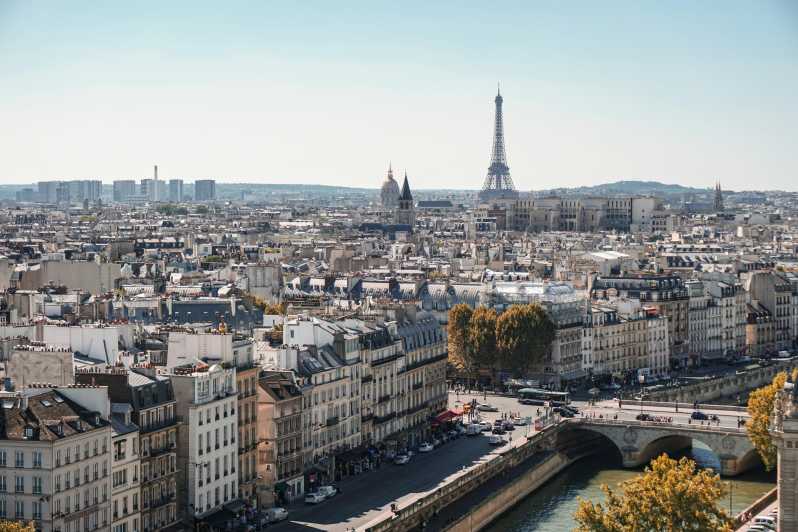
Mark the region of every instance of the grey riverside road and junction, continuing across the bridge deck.
[[[483, 420], [490, 422], [511, 413], [534, 419], [538, 417], [539, 410], [541, 412], [544, 410], [543, 407], [519, 404], [514, 397], [489, 394], [485, 399], [482, 395], [455, 392], [449, 395], [449, 403], [453, 407], [460, 407], [472, 399], [490, 403], [498, 408], [499, 412], [480, 413]], [[623, 405], [623, 408], [619, 409], [617, 401], [614, 400], [600, 401], [594, 406], [580, 401], [575, 401], [573, 404], [579, 409], [580, 415], [605, 418], [618, 415], [618, 419], [631, 421], [640, 413], [640, 408], [633, 405]], [[692, 409], [677, 413], [671, 407], [644, 407], [643, 411], [656, 416], [672, 417], [674, 422], [685, 424], [688, 423], [692, 413]], [[737, 427], [736, 412], [712, 409], [702, 409], [702, 411], [707, 414], [717, 414], [721, 420], [721, 429]], [[531, 426], [517, 427], [505, 437], [510, 438], [513, 445], [520, 445], [526, 441], [528, 434], [533, 433]], [[407, 465], [397, 466], [387, 463], [376, 471], [345, 479], [338, 483], [341, 489], [339, 495], [317, 505], [305, 505], [301, 502], [291, 505], [288, 507], [289, 520], [269, 528], [286, 532], [298, 530], [345, 532], [352, 528], [362, 529], [372, 521], [389, 515], [391, 503], [404, 507], [451, 481], [457, 475], [463, 474], [468, 468], [493, 459], [496, 453], [497, 449], [488, 444], [487, 437], [463, 436], [443, 444], [430, 453], [416, 454]]]

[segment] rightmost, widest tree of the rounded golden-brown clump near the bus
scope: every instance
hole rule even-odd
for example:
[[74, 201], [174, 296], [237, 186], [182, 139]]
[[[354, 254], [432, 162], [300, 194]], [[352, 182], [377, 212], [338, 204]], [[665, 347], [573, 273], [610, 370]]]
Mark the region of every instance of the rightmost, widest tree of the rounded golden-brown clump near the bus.
[[533, 303], [513, 305], [496, 320], [499, 362], [515, 376], [525, 376], [546, 356], [555, 328], [546, 311]]

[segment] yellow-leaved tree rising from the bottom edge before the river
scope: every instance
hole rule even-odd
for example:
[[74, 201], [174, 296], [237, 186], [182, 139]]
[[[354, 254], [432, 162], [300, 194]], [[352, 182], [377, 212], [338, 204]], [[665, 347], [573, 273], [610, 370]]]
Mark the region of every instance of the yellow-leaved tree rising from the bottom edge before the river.
[[688, 458], [663, 454], [645, 471], [620, 485], [621, 494], [601, 487], [604, 504], [579, 500], [574, 514], [579, 532], [682, 530], [731, 531], [731, 519], [718, 500], [726, 487], [711, 470], [696, 469]]

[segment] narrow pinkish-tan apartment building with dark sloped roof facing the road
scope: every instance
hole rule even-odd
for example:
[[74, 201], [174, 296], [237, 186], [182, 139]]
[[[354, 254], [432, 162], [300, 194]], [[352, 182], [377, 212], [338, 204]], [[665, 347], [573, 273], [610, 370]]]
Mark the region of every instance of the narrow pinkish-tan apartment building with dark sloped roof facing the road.
[[302, 497], [302, 390], [290, 371], [266, 371], [258, 381], [258, 503], [261, 508]]

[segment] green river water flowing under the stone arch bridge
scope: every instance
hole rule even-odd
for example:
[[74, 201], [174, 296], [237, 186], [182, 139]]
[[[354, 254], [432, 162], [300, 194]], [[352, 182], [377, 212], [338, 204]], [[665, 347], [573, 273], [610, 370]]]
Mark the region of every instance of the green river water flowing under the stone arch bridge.
[[[704, 467], [719, 468], [717, 458], [707, 447], [696, 441], [693, 445], [692, 451], [687, 452], [688, 456]], [[614, 454], [585, 458], [560, 473], [486, 530], [488, 532], [573, 530], [576, 526], [573, 515], [578, 506], [578, 497], [603, 501], [602, 484], [615, 487], [638, 473], [622, 469], [620, 457]], [[727, 479], [724, 479], [724, 482], [726, 481]], [[731, 482], [731, 507], [734, 513], [737, 513], [772, 489], [775, 486], [776, 476], [775, 473], [765, 473], [760, 469], [734, 477]], [[728, 497], [722, 501], [722, 504], [728, 509]]]

